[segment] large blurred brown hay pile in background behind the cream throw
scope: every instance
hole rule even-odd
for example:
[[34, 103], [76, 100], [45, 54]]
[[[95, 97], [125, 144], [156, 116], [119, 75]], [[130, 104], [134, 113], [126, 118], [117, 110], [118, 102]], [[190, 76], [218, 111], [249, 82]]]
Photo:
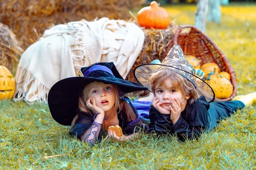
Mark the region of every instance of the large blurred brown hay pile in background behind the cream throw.
[[128, 8], [138, 8], [145, 0], [4, 0], [0, 2], [0, 22], [12, 28], [22, 48], [36, 42], [52, 25], [81, 19], [108, 17], [129, 19]]

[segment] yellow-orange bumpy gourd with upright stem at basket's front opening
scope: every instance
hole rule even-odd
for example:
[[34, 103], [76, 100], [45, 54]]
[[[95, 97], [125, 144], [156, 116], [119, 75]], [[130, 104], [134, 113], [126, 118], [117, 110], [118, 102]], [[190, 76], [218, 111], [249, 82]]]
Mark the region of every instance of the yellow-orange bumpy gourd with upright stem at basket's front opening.
[[227, 99], [233, 93], [233, 85], [228, 79], [217, 74], [217, 67], [209, 74], [205, 82], [212, 87], [215, 97], [218, 99]]

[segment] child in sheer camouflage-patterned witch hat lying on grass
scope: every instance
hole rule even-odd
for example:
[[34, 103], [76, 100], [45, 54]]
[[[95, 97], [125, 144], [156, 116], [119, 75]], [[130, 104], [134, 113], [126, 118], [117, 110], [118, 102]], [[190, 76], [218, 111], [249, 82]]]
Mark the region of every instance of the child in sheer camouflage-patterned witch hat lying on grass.
[[196, 139], [237, 109], [256, 104], [256, 93], [233, 101], [212, 102], [214, 91], [192, 74], [192, 66], [179, 45], [172, 47], [162, 64], [140, 65], [134, 75], [155, 96], [149, 111], [150, 131], [176, 133], [181, 141]]

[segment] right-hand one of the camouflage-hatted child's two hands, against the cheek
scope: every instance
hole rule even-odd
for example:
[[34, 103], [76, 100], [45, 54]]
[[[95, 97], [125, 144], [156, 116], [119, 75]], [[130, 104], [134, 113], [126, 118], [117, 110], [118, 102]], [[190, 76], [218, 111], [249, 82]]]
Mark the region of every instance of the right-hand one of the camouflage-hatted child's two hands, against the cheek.
[[171, 101], [171, 105], [169, 107], [171, 110], [170, 119], [171, 119], [173, 125], [178, 121], [178, 119], [180, 117], [181, 107], [183, 106], [183, 104], [184, 104], [184, 102], [182, 102], [180, 104], [178, 99], [172, 99], [172, 101]]

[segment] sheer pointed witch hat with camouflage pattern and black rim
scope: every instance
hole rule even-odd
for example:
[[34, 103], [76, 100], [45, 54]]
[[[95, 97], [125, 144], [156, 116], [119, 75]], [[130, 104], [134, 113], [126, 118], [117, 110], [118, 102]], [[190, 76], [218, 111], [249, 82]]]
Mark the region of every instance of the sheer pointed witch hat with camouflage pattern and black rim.
[[150, 77], [160, 70], [171, 70], [188, 79], [195, 86], [200, 96], [204, 95], [208, 102], [215, 99], [215, 93], [210, 85], [201, 78], [192, 74], [192, 66], [187, 62], [179, 45], [174, 45], [169, 51], [162, 64], [143, 64], [134, 68], [136, 80], [151, 91]]

